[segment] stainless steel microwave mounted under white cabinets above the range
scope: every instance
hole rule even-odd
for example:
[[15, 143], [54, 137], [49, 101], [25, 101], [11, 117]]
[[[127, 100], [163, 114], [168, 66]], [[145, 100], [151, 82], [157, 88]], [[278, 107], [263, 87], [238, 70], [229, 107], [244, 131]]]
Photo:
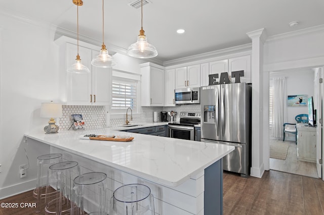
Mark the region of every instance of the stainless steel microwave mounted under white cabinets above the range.
[[176, 104], [200, 104], [200, 87], [175, 89]]

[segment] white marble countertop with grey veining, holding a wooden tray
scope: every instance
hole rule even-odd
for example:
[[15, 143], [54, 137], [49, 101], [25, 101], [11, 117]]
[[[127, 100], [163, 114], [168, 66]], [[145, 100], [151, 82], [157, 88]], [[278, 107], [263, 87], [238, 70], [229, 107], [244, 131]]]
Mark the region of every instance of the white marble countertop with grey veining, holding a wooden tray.
[[[79, 139], [86, 134], [129, 135], [134, 139], [130, 142]], [[233, 146], [224, 144], [129, 133], [115, 128], [25, 136], [171, 187], [180, 185], [234, 150]]]

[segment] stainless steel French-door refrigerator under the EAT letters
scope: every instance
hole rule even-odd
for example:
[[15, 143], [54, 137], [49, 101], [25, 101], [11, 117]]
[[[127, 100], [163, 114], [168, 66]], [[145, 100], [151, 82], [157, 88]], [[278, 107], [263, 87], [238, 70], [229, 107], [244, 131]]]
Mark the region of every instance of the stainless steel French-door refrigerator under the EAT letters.
[[232, 145], [224, 170], [249, 175], [251, 163], [252, 86], [232, 83], [200, 89], [201, 141]]

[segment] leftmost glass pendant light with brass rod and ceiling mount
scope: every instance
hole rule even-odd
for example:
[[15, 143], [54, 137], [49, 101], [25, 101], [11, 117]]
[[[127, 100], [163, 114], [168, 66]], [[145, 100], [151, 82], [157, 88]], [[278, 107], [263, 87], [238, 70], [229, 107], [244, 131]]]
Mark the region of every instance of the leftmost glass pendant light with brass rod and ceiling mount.
[[82, 64], [79, 56], [79, 6], [83, 6], [82, 0], [73, 0], [73, 4], [77, 6], [76, 9], [76, 25], [77, 25], [77, 56], [74, 64], [66, 71], [70, 73], [90, 73], [88, 67]]

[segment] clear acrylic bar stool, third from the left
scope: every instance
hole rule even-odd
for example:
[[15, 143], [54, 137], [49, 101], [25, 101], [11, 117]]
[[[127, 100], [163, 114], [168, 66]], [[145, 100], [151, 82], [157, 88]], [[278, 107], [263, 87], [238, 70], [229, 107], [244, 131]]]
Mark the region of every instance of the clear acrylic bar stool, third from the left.
[[107, 215], [107, 175], [100, 172], [85, 173], [74, 179], [71, 215]]

